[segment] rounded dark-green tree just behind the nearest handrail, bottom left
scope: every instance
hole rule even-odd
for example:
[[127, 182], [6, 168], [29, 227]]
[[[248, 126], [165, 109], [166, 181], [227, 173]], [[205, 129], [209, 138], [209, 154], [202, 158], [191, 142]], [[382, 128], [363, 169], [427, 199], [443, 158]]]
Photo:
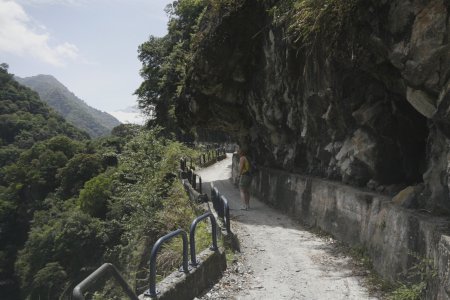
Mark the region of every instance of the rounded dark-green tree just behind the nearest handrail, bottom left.
[[74, 206], [52, 206], [37, 212], [33, 223], [15, 264], [23, 298], [51, 299], [48, 293], [62, 291], [66, 278], [85, 276], [84, 267], [101, 264], [106, 239], [103, 223], [98, 219]]

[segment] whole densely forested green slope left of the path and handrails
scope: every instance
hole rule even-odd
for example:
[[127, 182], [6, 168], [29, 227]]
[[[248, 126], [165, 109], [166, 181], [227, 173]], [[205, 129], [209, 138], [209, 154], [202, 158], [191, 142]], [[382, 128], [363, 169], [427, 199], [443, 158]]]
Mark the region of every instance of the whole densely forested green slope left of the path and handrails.
[[106, 261], [145, 288], [139, 279], [148, 274], [149, 245], [194, 216], [168, 175], [193, 150], [136, 125], [90, 140], [17, 83], [6, 64], [0, 108], [1, 298], [65, 297]]

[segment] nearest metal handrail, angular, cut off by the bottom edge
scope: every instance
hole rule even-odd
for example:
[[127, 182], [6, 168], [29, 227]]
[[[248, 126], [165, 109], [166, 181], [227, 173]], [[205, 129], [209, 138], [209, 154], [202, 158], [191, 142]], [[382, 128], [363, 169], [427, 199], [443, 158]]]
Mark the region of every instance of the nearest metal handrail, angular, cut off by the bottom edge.
[[130, 299], [138, 300], [138, 296], [133, 292], [131, 287], [127, 284], [125, 279], [120, 275], [119, 271], [116, 267], [111, 263], [104, 263], [97, 270], [91, 273], [86, 279], [80, 282], [72, 292], [73, 299], [75, 300], [84, 300], [83, 292], [85, 292], [88, 288], [96, 283], [96, 281], [103, 277], [104, 275], [112, 274], [113, 277], [119, 282], [120, 286], [123, 288], [125, 293]]

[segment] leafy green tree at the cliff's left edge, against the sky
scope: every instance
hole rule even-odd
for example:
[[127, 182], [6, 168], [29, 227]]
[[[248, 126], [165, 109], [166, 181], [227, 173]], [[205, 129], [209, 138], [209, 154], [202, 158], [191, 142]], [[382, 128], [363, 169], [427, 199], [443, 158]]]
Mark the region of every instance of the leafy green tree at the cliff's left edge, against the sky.
[[183, 135], [176, 118], [177, 99], [184, 87], [186, 67], [191, 58], [191, 38], [208, 1], [180, 0], [166, 8], [169, 33], [163, 38], [150, 36], [139, 46], [144, 81], [136, 90], [139, 107], [163, 126], [166, 132]]

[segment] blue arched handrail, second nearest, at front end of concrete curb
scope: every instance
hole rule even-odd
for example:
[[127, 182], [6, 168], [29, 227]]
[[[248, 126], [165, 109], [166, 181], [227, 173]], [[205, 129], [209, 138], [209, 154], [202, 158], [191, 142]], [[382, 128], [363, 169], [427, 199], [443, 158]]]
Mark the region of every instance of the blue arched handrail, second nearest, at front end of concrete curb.
[[156, 291], [156, 254], [158, 253], [159, 248], [161, 248], [161, 245], [164, 242], [174, 238], [177, 235], [181, 235], [181, 237], [183, 238], [183, 271], [185, 273], [189, 273], [187, 234], [184, 230], [177, 229], [159, 238], [159, 240], [156, 241], [155, 245], [153, 245], [152, 252], [150, 254], [150, 283], [149, 283], [150, 287], [144, 293], [144, 295], [150, 297], [157, 296], [158, 293]]

